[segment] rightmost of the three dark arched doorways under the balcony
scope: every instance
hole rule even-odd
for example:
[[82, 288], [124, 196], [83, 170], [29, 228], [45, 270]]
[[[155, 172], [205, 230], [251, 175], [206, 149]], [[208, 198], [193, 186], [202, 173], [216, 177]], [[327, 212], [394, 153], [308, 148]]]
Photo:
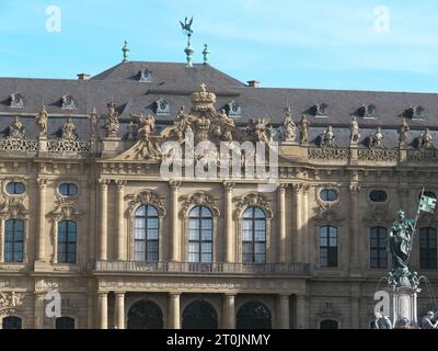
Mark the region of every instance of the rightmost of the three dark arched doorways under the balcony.
[[269, 309], [262, 303], [250, 302], [239, 308], [238, 329], [272, 329]]

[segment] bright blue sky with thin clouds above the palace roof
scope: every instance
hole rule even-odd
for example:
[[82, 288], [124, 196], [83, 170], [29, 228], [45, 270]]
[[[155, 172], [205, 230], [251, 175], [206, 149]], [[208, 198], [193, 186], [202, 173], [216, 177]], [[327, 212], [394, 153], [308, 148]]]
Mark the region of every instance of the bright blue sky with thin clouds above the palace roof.
[[[46, 30], [49, 5], [60, 32]], [[438, 92], [436, 0], [1, 0], [0, 76], [95, 75], [122, 60], [125, 39], [131, 60], [184, 61], [185, 15], [195, 61], [208, 43], [211, 65], [242, 81]]]

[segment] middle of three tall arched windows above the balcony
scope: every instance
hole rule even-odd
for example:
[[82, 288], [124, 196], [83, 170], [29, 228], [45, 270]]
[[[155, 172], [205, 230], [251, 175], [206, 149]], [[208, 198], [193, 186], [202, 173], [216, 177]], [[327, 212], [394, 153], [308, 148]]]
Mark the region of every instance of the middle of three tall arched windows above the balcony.
[[211, 263], [212, 214], [205, 206], [194, 207], [188, 216], [188, 262]]

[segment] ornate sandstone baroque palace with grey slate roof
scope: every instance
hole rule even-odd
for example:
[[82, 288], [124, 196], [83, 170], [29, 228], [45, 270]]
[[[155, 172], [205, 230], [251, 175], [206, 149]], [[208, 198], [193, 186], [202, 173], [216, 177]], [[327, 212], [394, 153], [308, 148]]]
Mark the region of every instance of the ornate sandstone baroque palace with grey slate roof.
[[[369, 328], [396, 211], [438, 191], [436, 94], [126, 61], [91, 79], [3, 78], [0, 97], [3, 329]], [[163, 143], [189, 133], [278, 143], [278, 186], [164, 179]], [[437, 226], [422, 215], [412, 254], [431, 285]], [[419, 313], [430, 304], [424, 288]]]

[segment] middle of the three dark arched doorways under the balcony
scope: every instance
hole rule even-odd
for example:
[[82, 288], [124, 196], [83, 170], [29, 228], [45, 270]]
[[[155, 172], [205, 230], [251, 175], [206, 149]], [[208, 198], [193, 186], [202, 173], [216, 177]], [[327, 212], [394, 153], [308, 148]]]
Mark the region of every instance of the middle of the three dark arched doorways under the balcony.
[[218, 329], [215, 307], [204, 301], [189, 304], [183, 313], [183, 329]]

